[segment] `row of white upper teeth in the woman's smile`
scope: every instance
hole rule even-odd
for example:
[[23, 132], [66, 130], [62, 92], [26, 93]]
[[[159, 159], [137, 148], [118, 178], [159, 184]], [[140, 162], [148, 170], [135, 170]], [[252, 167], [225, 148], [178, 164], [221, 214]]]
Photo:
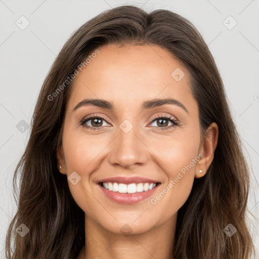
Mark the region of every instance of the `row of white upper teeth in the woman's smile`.
[[139, 183], [139, 184], [118, 184], [118, 183], [103, 183], [102, 186], [113, 192], [119, 193], [136, 193], [143, 192], [153, 189], [156, 184], [155, 183]]

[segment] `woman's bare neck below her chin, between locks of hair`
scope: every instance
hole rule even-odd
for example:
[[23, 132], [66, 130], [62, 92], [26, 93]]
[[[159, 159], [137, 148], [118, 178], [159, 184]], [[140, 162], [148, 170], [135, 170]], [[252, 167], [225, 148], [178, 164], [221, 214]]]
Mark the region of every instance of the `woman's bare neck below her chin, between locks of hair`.
[[[85, 217], [85, 246], [77, 259], [174, 259], [177, 213], [147, 232], [122, 235], [107, 231]], [[87, 249], [85, 249], [87, 247]]]

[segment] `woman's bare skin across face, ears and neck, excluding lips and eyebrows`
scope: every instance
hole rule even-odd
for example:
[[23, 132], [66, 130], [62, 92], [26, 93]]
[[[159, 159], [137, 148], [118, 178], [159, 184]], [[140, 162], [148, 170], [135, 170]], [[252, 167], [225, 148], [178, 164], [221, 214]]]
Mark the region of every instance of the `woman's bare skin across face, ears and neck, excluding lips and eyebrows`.
[[[76, 76], [66, 107], [62, 146], [57, 151], [60, 172], [69, 176], [76, 171], [81, 177], [76, 185], [68, 181], [74, 200], [85, 213], [87, 249], [84, 246], [77, 259], [117, 259], [122, 255], [124, 259], [172, 258], [177, 212], [187, 200], [194, 178], [203, 177], [213, 160], [218, 126], [214, 122], [210, 125], [202, 144], [198, 105], [188, 84], [188, 71], [167, 50], [156, 45], [109, 45], [98, 49], [100, 54]], [[180, 81], [171, 76], [176, 68], [185, 73]], [[85, 98], [113, 102], [115, 109], [87, 105], [73, 111]], [[154, 98], [174, 98], [188, 113], [170, 104], [142, 111], [142, 103]], [[93, 114], [105, 117], [97, 126], [100, 130], [78, 125]], [[173, 124], [166, 120], [167, 124], [159, 127], [158, 119], [153, 120], [155, 115], [169, 115], [179, 125], [161, 130]], [[128, 133], [119, 127], [125, 119], [133, 125]], [[85, 123], [95, 126], [94, 119]], [[152, 204], [151, 198], [199, 153], [203, 157]], [[106, 197], [96, 184], [116, 176], [145, 177], [161, 185], [151, 197], [123, 205]], [[121, 233], [124, 224], [131, 227], [131, 235]]]

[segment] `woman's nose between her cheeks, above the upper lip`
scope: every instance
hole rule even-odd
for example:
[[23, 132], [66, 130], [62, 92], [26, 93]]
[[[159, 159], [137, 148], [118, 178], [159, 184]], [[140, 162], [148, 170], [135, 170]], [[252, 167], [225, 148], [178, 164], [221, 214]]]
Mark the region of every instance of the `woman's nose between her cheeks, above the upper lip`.
[[111, 143], [109, 162], [112, 165], [120, 165], [123, 168], [132, 167], [136, 164], [145, 164], [149, 157], [148, 147], [144, 137], [139, 134], [136, 127], [130, 132], [123, 132], [118, 128], [117, 137]]

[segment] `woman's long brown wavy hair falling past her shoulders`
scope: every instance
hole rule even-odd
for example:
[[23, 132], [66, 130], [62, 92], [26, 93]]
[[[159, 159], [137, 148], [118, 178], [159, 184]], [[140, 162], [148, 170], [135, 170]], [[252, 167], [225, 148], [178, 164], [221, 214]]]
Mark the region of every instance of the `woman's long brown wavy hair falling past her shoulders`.
[[[168, 50], [190, 73], [202, 136], [210, 123], [219, 126], [214, 159], [206, 175], [194, 179], [190, 196], [178, 211], [174, 258], [250, 258], [254, 246], [246, 222], [248, 165], [214, 59], [187, 19], [167, 10], [148, 14], [135, 6], [113, 8], [83, 24], [51, 67], [15, 170], [13, 188], [19, 201], [6, 237], [7, 258], [74, 259], [84, 246], [84, 212], [71, 196], [67, 176], [58, 170], [56, 154], [74, 83], [70, 77], [94, 50], [108, 44], [155, 44]], [[16, 232], [21, 224], [29, 229], [24, 237]], [[228, 224], [237, 229], [231, 237], [224, 232]]]

